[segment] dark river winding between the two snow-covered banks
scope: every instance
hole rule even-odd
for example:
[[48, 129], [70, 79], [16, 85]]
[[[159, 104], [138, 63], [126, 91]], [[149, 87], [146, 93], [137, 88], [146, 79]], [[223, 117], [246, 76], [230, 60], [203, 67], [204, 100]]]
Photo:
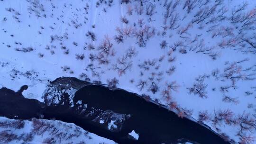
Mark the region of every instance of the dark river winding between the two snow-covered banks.
[[[43, 114], [45, 119], [74, 123], [119, 144], [229, 144], [204, 126], [124, 90], [89, 85], [75, 93], [73, 106], [67, 94], [63, 99], [61, 104], [41, 108], [43, 104], [37, 100], [3, 88], [0, 115], [29, 119]], [[138, 133], [138, 140], [128, 136], [132, 130]]]

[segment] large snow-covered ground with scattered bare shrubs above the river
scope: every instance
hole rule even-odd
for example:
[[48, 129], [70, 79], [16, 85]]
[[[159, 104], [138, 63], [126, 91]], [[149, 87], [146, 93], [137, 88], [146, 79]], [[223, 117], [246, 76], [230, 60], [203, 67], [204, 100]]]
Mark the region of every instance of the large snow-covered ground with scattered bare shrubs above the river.
[[43, 101], [47, 80], [101, 81], [170, 105], [226, 139], [256, 144], [255, 6], [0, 0], [0, 87], [27, 84], [24, 96]]

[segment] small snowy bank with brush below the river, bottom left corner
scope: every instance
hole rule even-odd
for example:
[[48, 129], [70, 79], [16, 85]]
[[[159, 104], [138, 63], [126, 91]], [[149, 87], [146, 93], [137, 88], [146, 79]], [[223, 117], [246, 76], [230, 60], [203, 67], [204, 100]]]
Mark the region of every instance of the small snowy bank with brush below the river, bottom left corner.
[[57, 120], [0, 117], [1, 144], [116, 144], [81, 127]]

